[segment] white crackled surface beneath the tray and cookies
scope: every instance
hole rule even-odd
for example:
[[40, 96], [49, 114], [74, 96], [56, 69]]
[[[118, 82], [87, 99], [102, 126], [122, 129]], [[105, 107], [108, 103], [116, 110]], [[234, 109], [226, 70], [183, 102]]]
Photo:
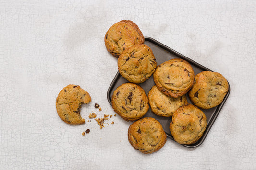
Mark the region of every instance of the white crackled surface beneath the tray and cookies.
[[[117, 59], [104, 35], [123, 19], [229, 81], [230, 96], [201, 146], [167, 139], [146, 155], [128, 142], [131, 122], [112, 117], [101, 130], [87, 122], [92, 112], [114, 114], [107, 90]], [[0, 0], [0, 169], [256, 169], [255, 49], [254, 0]], [[56, 112], [68, 84], [92, 97], [82, 107], [84, 125]]]

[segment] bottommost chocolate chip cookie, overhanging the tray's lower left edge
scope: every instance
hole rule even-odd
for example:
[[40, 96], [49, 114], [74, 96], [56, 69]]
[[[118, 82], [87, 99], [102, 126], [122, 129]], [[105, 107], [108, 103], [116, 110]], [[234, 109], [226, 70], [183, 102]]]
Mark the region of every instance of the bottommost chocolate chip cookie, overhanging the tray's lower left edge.
[[134, 149], [148, 154], [156, 152], [164, 146], [166, 134], [156, 119], [146, 117], [130, 125], [128, 140]]

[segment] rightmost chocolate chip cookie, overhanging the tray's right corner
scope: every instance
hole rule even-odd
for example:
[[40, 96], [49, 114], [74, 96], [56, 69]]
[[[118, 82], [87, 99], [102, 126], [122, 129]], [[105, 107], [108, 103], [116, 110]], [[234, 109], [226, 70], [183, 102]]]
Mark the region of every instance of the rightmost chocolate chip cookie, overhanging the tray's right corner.
[[188, 95], [197, 107], [210, 109], [223, 101], [228, 90], [228, 81], [220, 73], [203, 71], [195, 76], [195, 84]]

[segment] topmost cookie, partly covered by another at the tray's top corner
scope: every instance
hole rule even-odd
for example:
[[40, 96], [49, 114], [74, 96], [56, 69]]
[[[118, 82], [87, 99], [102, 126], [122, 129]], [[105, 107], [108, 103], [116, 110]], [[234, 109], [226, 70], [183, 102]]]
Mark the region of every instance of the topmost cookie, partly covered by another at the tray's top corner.
[[117, 58], [126, 48], [143, 43], [143, 34], [139, 27], [130, 20], [122, 20], [113, 24], [105, 35], [107, 50]]

